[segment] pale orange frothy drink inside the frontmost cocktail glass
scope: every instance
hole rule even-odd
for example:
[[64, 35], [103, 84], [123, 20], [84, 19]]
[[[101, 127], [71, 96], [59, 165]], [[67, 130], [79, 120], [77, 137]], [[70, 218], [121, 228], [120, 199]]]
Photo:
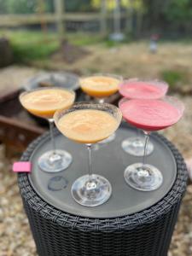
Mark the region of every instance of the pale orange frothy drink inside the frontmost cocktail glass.
[[117, 130], [119, 122], [110, 113], [80, 109], [67, 113], [58, 121], [58, 129], [77, 143], [97, 143]]

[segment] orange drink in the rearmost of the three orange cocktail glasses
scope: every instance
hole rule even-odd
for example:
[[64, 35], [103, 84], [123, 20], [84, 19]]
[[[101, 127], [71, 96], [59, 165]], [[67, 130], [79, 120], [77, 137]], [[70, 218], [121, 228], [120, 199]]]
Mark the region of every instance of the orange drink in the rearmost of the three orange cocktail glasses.
[[81, 89], [89, 96], [103, 98], [113, 95], [119, 90], [120, 79], [95, 75], [80, 79]]

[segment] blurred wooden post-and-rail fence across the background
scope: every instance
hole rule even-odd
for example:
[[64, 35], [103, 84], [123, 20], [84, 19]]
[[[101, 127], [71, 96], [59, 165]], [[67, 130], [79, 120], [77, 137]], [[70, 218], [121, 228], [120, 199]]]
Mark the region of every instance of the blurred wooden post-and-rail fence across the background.
[[[65, 11], [63, 0], [55, 0], [55, 13], [38, 13], [29, 15], [0, 15], [0, 27], [3, 26], [25, 26], [35, 24], [49, 24], [55, 23], [57, 26], [58, 35], [60, 38], [64, 37], [65, 33], [65, 22], [67, 21], [79, 21], [79, 22], [91, 22], [97, 21], [100, 27], [102, 35], [108, 33], [108, 20], [113, 18], [113, 13], [108, 13], [106, 8], [106, 1], [102, 0], [101, 10], [98, 13], [68, 13]], [[141, 15], [137, 15], [137, 30], [141, 24]], [[132, 32], [131, 19], [132, 11], [127, 9], [120, 15], [121, 19], [125, 19], [125, 31]], [[136, 27], [135, 27], [136, 29]]]

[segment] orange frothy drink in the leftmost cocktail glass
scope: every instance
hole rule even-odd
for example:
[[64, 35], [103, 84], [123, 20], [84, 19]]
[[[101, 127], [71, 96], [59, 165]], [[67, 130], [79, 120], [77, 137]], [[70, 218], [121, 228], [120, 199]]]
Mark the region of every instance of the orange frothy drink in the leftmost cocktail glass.
[[70, 108], [74, 102], [74, 93], [62, 88], [33, 90], [20, 97], [20, 103], [26, 110], [42, 118], [52, 119], [56, 110]]

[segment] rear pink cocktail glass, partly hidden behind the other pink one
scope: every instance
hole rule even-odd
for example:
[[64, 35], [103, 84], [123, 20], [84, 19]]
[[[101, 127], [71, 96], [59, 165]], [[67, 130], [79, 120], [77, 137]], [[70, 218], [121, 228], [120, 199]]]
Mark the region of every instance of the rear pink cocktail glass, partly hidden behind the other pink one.
[[[166, 95], [168, 84], [159, 80], [125, 80], [119, 85], [119, 93], [127, 99], [160, 99]], [[121, 147], [128, 154], [142, 156], [144, 154], [145, 138], [137, 129], [136, 137], [128, 137], [122, 143]], [[146, 154], [154, 151], [154, 145], [148, 142]]]

